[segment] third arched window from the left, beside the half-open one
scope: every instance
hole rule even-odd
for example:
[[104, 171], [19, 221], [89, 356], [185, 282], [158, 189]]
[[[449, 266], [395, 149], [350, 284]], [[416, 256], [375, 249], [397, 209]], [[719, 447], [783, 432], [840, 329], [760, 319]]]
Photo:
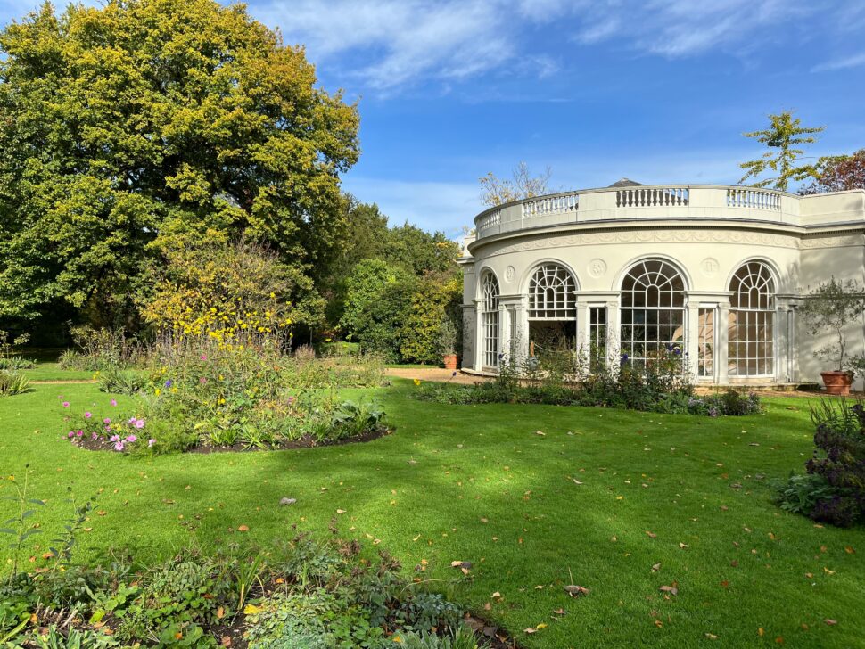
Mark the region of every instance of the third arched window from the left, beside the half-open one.
[[661, 259], [647, 259], [622, 280], [622, 354], [638, 365], [659, 350], [685, 348], [685, 281]]

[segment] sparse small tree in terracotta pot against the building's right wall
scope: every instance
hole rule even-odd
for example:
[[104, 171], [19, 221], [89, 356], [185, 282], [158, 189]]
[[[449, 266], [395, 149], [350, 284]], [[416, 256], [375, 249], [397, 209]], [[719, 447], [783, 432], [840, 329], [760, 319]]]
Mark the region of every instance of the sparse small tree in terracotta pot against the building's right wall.
[[853, 372], [845, 362], [847, 337], [844, 327], [861, 320], [863, 308], [865, 296], [859, 284], [849, 279], [842, 282], [832, 277], [805, 297], [801, 313], [807, 333], [818, 340], [828, 334], [832, 340], [814, 351], [815, 357], [833, 362], [834, 369], [820, 372], [829, 394], [850, 394]]

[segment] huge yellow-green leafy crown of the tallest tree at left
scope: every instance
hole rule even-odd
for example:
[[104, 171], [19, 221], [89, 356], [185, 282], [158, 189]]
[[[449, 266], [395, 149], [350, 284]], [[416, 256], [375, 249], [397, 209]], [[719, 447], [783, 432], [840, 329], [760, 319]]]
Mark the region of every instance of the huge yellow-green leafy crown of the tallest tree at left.
[[121, 317], [145, 259], [208, 229], [309, 275], [339, 251], [357, 108], [243, 5], [44, 4], [0, 53], [0, 316]]

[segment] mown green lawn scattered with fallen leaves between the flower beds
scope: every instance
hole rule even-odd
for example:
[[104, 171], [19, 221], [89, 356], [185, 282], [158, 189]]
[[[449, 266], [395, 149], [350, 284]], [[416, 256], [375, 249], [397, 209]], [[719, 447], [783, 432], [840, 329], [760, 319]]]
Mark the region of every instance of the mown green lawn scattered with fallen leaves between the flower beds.
[[[68, 485], [78, 497], [103, 489], [78, 559], [267, 545], [294, 526], [329, 534], [335, 524], [344, 538], [379, 539], [407, 569], [425, 560], [435, 587], [526, 647], [861, 646], [865, 530], [816, 526], [770, 502], [771, 482], [811, 454], [808, 400], [709, 419], [441, 406], [407, 398], [412, 387], [346, 390], [375, 395], [397, 428], [367, 444], [143, 458], [62, 439], [59, 395], [76, 413], [111, 414], [95, 385], [37, 385], [0, 400], [0, 472], [35, 470], [32, 495], [53, 513], [33, 539], [43, 544], [69, 511]], [[278, 506], [284, 496], [297, 505]], [[455, 560], [474, 563], [467, 577]], [[673, 582], [679, 594], [663, 596]], [[568, 583], [591, 592], [570, 598]]]

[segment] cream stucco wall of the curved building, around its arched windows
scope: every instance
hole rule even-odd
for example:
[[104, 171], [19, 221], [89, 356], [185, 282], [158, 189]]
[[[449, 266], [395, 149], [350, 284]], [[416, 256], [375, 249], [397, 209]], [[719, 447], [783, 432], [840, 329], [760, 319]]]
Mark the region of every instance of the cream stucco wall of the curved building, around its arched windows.
[[[740, 188], [695, 186], [685, 194], [687, 205], [658, 205], [652, 197], [660, 195], [662, 202], [669, 202], [663, 192], [672, 190], [648, 191], [655, 193], [644, 192], [643, 196], [649, 196], [644, 202], [655, 202], [647, 207], [616, 207], [617, 202], [624, 202], [621, 192], [606, 189], [585, 193], [590, 200], [583, 198], [584, 193], [579, 193], [579, 200], [577, 193], [557, 194], [547, 202], [532, 199], [531, 209], [523, 206], [518, 210], [520, 203], [515, 203], [479, 215], [480, 236], [460, 260], [465, 272], [462, 366], [482, 369], [475, 356], [482, 344], [476, 300], [484, 272], [498, 277], [501, 308], [515, 308], [502, 318], [505, 340], [508, 314], [516, 314], [521, 330], [527, 326], [524, 307], [529, 278], [545, 262], [561, 264], [572, 272], [581, 312], [587, 304], [617, 308], [622, 277], [630, 267], [642, 259], [664, 259], [680, 269], [691, 308], [718, 306], [721, 314], [729, 302], [731, 276], [747, 261], [760, 260], [776, 279], [773, 380], [819, 381], [820, 371], [831, 368], [813, 357], [813, 349], [828, 338], [821, 341], [806, 335], [795, 308], [804, 293], [833, 275], [865, 282], [865, 192], [800, 198], [746, 190], [746, 208], [742, 208]], [[706, 204], [697, 204], [699, 201]], [[721, 201], [727, 204], [717, 204]], [[587, 204], [592, 209], [584, 211]], [[754, 208], [754, 204], [762, 207]], [[578, 313], [578, 341], [586, 340], [585, 331], [580, 331], [585, 329], [585, 316], [582, 320]], [[847, 335], [851, 353], [865, 351], [861, 319], [850, 323]], [[723, 355], [726, 357], [726, 350]], [[723, 376], [715, 379], [728, 380]], [[729, 381], [740, 380], [730, 377]]]

